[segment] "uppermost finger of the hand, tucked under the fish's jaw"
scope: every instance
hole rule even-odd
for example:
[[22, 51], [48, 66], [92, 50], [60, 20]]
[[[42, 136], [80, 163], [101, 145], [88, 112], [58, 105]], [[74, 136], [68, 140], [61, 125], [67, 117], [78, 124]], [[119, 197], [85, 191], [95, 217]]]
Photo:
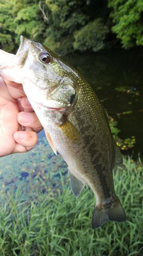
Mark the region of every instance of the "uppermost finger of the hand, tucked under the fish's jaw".
[[19, 99], [21, 97], [25, 97], [25, 93], [23, 91], [23, 87], [21, 83], [16, 83], [13, 81], [5, 80], [5, 83], [7, 84], [7, 88], [9, 90], [9, 93], [14, 99]]

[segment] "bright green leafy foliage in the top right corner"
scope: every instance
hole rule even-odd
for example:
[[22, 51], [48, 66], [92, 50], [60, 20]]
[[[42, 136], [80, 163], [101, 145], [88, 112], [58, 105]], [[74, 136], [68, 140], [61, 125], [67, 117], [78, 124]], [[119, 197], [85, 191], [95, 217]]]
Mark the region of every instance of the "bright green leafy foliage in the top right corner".
[[143, 45], [143, 1], [142, 0], [109, 0], [110, 16], [124, 48]]

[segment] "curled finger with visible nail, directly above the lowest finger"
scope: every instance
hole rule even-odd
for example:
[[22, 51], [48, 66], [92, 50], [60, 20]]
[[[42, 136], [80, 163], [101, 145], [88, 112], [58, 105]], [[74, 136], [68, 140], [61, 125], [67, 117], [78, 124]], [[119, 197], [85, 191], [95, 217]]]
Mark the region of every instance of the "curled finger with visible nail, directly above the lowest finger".
[[31, 127], [36, 133], [43, 129], [35, 112], [19, 112], [17, 120], [22, 126]]

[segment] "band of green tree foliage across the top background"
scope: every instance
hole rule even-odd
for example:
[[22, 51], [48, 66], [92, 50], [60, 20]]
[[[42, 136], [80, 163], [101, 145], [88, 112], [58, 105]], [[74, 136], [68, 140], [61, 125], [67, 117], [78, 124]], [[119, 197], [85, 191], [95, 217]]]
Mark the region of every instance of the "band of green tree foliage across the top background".
[[1, 0], [0, 47], [15, 52], [21, 34], [60, 55], [111, 47], [116, 34], [124, 48], [139, 46], [142, 13], [142, 0]]

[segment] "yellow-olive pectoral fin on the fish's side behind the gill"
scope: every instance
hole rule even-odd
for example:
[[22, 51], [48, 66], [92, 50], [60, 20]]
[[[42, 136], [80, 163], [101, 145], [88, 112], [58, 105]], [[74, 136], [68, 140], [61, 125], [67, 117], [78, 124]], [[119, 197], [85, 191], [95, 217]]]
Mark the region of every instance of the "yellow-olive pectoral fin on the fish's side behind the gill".
[[58, 126], [65, 136], [73, 143], [76, 143], [80, 139], [80, 133], [69, 120], [66, 120], [63, 124], [59, 124]]

